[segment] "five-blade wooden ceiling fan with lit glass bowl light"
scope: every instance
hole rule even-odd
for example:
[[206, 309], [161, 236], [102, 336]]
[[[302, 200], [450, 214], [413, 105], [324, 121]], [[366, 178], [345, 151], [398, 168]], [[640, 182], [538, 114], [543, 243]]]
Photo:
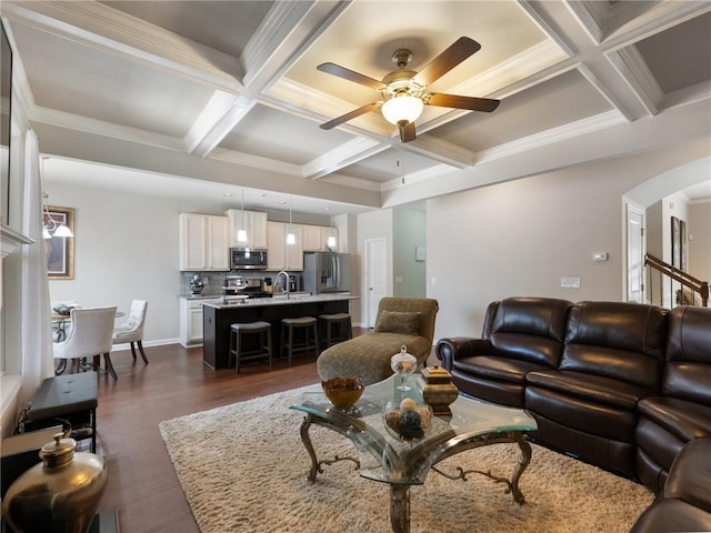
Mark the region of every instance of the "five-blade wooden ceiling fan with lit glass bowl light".
[[362, 108], [330, 120], [321, 128], [330, 130], [356, 117], [380, 109], [385, 120], [400, 130], [400, 141], [409, 142], [417, 138], [414, 121], [422, 113], [424, 105], [468, 109], [471, 111], [491, 112], [499, 105], [499, 100], [488, 98], [459, 97], [440, 92], [427, 92], [427, 87], [434, 83], [463, 60], [479, 51], [481, 44], [468, 37], [460, 37], [447, 50], [430, 61], [422, 70], [405, 70], [412, 61], [412, 52], [407, 49], [395, 50], [392, 61], [398, 69], [378, 81], [336, 63], [322, 63], [317, 67], [321, 72], [338, 76], [380, 91], [383, 100], [369, 103]]

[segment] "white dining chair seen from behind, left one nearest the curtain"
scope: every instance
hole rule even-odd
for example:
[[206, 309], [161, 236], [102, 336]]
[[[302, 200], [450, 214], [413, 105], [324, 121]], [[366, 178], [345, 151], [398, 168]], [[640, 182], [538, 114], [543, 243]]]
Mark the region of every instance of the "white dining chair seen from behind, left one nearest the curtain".
[[67, 340], [52, 344], [54, 360], [60, 360], [54, 373], [61, 374], [68, 361], [77, 366], [81, 360], [92, 358], [92, 366], [99, 370], [100, 358], [103, 355], [106, 370], [116, 380], [116, 370], [111, 363], [111, 346], [113, 345], [113, 322], [116, 305], [107, 308], [77, 308], [70, 312], [71, 330]]

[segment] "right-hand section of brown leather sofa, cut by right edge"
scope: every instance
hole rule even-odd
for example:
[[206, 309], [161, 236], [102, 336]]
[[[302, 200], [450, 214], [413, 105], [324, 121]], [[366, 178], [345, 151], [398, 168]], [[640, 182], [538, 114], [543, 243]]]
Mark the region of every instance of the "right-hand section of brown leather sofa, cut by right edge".
[[635, 430], [638, 475], [654, 492], [687, 442], [711, 438], [711, 309], [671, 311], [665, 359], [661, 394], [640, 400]]

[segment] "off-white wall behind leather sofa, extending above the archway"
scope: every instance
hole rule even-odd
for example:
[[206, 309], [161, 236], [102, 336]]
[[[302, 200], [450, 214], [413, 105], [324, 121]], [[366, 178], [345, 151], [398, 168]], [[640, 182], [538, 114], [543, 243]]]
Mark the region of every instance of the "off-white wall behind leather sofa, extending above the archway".
[[[697, 143], [429, 200], [435, 338], [479, 336], [487, 305], [511, 295], [621, 301], [623, 195], [708, 155], [708, 142]], [[594, 252], [609, 260], [593, 262]], [[561, 288], [562, 276], [580, 278], [580, 289]]]

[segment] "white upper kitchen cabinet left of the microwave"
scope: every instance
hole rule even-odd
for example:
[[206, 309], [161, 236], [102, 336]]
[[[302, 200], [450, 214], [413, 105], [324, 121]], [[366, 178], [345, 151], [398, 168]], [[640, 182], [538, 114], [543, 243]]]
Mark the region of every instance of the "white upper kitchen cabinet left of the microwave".
[[180, 214], [180, 270], [230, 270], [230, 219]]

